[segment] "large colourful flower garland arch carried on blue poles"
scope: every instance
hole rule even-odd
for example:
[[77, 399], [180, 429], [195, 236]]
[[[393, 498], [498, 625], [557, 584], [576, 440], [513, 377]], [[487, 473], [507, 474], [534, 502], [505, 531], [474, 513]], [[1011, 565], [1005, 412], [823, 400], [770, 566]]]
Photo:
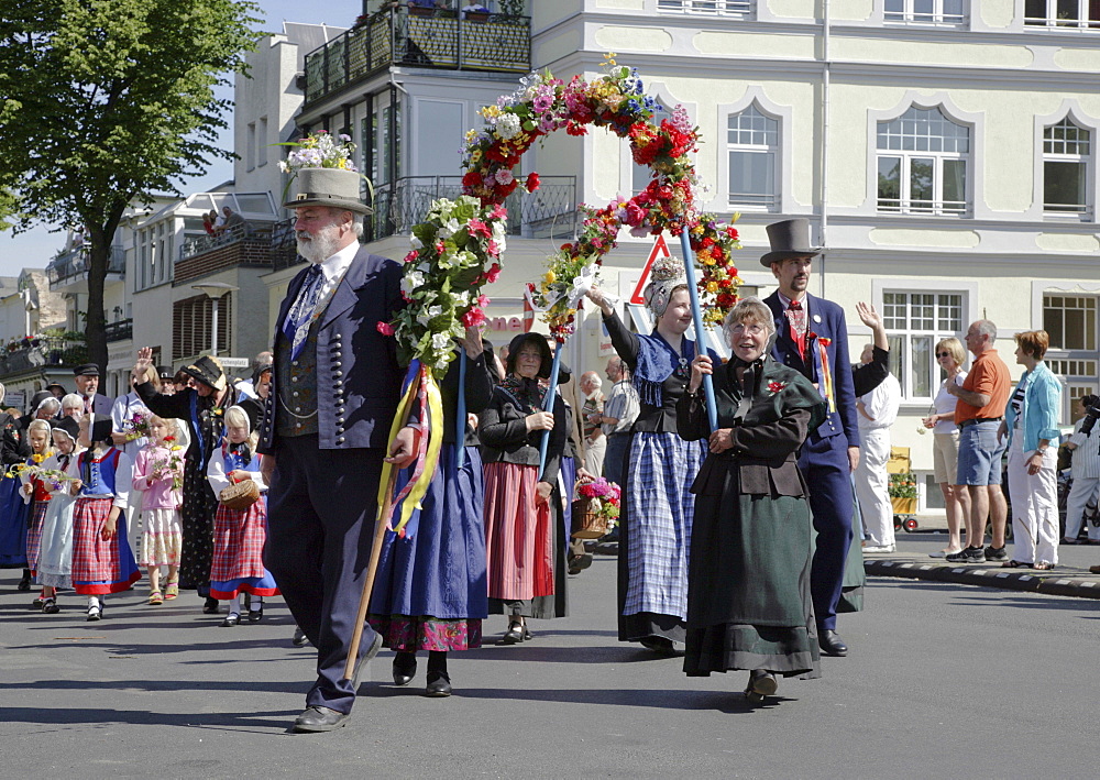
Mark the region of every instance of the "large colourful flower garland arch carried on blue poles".
[[[741, 283], [732, 256], [733, 250], [740, 249], [737, 229], [696, 208], [698, 178], [689, 155], [696, 151], [698, 129], [682, 107], [658, 124], [654, 116], [661, 107], [645, 95], [637, 69], [617, 65], [614, 57], [606, 56], [607, 73], [591, 81], [574, 76], [566, 84], [549, 72], [531, 74], [521, 79], [516, 92], [482, 109], [487, 128], [466, 133], [463, 191], [486, 207], [502, 202], [520, 186], [513, 168], [535, 141], [562, 129], [570, 135], [584, 135], [588, 124], [607, 128], [629, 139], [635, 162], [653, 171], [646, 189], [630, 199], [619, 198], [602, 209], [582, 205], [584, 219], [576, 241], [562, 244], [549, 259], [534, 303], [546, 309], [543, 319], [558, 340], [573, 332], [576, 309], [583, 306], [569, 295], [578, 292], [574, 279], [591, 274], [588, 266], [601, 264], [603, 255], [615, 248], [623, 224], [635, 237], [663, 230], [680, 235], [688, 230], [702, 268], [697, 284], [707, 325], [721, 322], [737, 303]], [[537, 186], [537, 174], [524, 184], [528, 191]]]

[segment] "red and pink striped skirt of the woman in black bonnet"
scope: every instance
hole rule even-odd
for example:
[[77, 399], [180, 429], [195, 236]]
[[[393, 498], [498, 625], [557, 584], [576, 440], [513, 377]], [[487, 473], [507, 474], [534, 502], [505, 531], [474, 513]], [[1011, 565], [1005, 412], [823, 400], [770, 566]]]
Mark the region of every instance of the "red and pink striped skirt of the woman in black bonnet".
[[488, 597], [553, 595], [550, 503], [535, 506], [538, 466], [485, 464], [485, 558]]

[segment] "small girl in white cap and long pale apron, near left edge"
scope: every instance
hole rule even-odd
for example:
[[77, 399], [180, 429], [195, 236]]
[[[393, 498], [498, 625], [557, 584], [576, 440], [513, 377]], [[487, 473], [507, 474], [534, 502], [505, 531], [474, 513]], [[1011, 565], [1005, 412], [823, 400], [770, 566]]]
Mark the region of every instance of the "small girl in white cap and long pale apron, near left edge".
[[[42, 462], [48, 471], [58, 471], [76, 480], [78, 459], [82, 451], [77, 443], [80, 426], [72, 417], [53, 425], [54, 454]], [[42, 585], [42, 612], [56, 615], [57, 589], [73, 586], [73, 508], [76, 498], [69, 492], [70, 482], [45, 480], [50, 492], [46, 512], [38, 531], [38, 554], [35, 578]]]

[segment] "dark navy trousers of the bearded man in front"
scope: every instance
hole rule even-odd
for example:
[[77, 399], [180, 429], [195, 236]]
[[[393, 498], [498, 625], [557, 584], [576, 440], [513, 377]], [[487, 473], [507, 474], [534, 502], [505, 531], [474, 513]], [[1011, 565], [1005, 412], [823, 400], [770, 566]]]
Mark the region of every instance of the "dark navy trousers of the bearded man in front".
[[[317, 648], [306, 706], [351, 712], [343, 679], [371, 559], [383, 450], [321, 450], [317, 436], [282, 438], [267, 491], [264, 563], [298, 626]], [[375, 636], [363, 629], [360, 653]]]

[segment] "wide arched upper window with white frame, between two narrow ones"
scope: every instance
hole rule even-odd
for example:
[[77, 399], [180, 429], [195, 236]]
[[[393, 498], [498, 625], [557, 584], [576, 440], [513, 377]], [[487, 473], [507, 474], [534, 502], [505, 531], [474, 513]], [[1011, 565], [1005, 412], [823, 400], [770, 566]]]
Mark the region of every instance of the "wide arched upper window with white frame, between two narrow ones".
[[880, 212], [965, 215], [970, 129], [938, 108], [878, 123]]

